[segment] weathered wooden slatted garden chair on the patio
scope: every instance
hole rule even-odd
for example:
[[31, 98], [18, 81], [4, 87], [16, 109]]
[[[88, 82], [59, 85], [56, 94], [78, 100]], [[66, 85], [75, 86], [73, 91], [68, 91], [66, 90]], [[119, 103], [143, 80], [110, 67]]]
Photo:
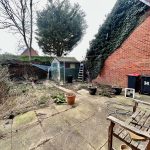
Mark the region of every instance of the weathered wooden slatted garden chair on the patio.
[[107, 117], [111, 122], [108, 131], [108, 150], [113, 150], [113, 136], [132, 150], [150, 150], [150, 112], [137, 109], [139, 103], [149, 106], [150, 103], [133, 100], [135, 102], [133, 115], [125, 122], [113, 116]]

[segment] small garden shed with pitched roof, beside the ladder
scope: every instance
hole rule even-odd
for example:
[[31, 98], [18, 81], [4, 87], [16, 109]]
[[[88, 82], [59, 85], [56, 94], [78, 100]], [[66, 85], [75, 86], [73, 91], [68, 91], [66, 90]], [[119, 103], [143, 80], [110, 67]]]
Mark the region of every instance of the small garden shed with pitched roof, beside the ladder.
[[78, 78], [80, 62], [74, 57], [56, 57], [51, 63], [51, 76], [54, 81], [66, 81], [68, 76]]

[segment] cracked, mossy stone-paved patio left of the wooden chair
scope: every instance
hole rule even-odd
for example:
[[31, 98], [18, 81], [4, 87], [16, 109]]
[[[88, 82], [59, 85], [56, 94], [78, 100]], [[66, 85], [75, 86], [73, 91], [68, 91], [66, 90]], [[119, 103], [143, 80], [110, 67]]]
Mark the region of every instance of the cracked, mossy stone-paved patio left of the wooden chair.
[[[80, 90], [74, 107], [51, 104], [13, 122], [1, 121], [0, 150], [107, 150], [110, 101], [114, 99]], [[119, 150], [120, 142], [114, 145]]]

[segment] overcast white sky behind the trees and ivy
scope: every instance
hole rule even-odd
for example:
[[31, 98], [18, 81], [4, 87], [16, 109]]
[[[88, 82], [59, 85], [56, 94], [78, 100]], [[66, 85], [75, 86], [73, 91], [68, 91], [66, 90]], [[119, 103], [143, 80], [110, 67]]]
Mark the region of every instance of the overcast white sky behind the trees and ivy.
[[[99, 26], [106, 19], [106, 15], [111, 12], [114, 4], [117, 0], [70, 0], [73, 3], [79, 3], [81, 9], [86, 14], [86, 22], [88, 28], [84, 34], [82, 40], [78, 45], [72, 50], [68, 55], [71, 57], [76, 57], [78, 60], [83, 60], [86, 56], [86, 51], [89, 48], [89, 42], [94, 39], [95, 34], [97, 34]], [[45, 7], [47, 0], [40, 0], [38, 9]], [[0, 30], [0, 53], [12, 53], [20, 54], [18, 50], [18, 36], [12, 34], [8, 30]], [[38, 46], [36, 40], [33, 40], [33, 48], [36, 49], [40, 55], [43, 55], [42, 50]]]

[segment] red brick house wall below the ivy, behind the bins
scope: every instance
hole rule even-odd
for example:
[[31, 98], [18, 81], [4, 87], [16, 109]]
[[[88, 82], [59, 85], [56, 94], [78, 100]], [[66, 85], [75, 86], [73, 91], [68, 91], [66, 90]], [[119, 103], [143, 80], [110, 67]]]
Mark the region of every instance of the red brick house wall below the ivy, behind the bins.
[[105, 61], [96, 82], [127, 87], [127, 74], [150, 75], [150, 16]]

